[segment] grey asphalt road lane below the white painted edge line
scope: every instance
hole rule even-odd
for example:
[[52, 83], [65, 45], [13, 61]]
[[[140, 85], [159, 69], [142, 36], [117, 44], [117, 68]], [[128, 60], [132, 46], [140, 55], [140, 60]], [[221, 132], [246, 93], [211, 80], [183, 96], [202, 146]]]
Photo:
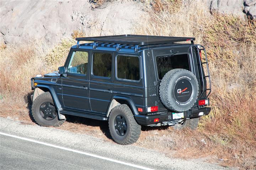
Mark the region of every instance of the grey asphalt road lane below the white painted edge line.
[[0, 135], [0, 169], [136, 169], [80, 153]]

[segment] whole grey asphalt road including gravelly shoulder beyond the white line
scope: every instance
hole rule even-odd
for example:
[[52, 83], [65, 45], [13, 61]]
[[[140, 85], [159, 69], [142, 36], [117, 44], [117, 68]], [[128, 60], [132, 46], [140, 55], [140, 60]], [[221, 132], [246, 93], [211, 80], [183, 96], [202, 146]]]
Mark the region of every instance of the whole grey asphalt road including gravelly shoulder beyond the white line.
[[[38, 125], [24, 125], [19, 121], [2, 117], [0, 132], [151, 169], [229, 169], [201, 159], [170, 158], [163, 153], [134, 145], [122, 146], [85, 134]], [[0, 135], [0, 165], [0, 169], [136, 169], [115, 161], [4, 135]]]

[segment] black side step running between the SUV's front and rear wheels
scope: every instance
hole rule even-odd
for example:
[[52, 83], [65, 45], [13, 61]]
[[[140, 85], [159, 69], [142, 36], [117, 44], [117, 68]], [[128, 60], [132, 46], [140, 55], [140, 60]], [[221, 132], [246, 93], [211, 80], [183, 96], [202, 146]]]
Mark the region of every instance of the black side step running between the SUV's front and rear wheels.
[[79, 116], [79, 117], [90, 118], [90, 119], [97, 119], [97, 120], [107, 120], [106, 116], [95, 115], [95, 114], [90, 114], [90, 113], [85, 113], [85, 112], [62, 110], [62, 111], [60, 111], [60, 114], [68, 114], [68, 115]]

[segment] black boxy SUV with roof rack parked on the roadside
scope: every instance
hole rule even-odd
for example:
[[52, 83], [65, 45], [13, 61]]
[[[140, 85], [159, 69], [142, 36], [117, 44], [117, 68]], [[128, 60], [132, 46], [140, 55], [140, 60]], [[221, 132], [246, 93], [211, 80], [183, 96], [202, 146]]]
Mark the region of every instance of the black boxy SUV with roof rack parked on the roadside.
[[[195, 38], [76, 40], [59, 72], [31, 79], [32, 116], [39, 125], [59, 126], [65, 115], [108, 120], [113, 140], [128, 145], [138, 140], [141, 125], [196, 129], [199, 117], [209, 114], [206, 51]], [[191, 43], [177, 43], [182, 41]]]

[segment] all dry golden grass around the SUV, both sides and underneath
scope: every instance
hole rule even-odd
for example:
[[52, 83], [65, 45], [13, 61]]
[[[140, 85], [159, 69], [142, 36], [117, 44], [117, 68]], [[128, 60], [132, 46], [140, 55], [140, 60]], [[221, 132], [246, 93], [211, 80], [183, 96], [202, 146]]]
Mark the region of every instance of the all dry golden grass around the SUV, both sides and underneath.
[[[134, 27], [134, 33], [193, 36], [196, 43], [206, 47], [212, 78], [212, 112], [202, 117], [196, 131], [143, 127], [135, 145], [158, 146], [160, 151], [177, 157], [210, 156], [210, 161], [222, 165], [256, 169], [256, 22], [210, 15], [201, 1], [185, 2], [146, 1], [145, 11], [149, 15]], [[90, 35], [75, 31], [72, 36], [98, 34], [98, 30]], [[1, 46], [1, 116], [32, 122], [28, 99], [30, 78], [62, 66], [72, 44], [73, 40], [63, 40], [54, 49], [39, 43], [15, 50]], [[111, 141], [107, 123], [101, 121], [69, 117], [59, 128]]]

